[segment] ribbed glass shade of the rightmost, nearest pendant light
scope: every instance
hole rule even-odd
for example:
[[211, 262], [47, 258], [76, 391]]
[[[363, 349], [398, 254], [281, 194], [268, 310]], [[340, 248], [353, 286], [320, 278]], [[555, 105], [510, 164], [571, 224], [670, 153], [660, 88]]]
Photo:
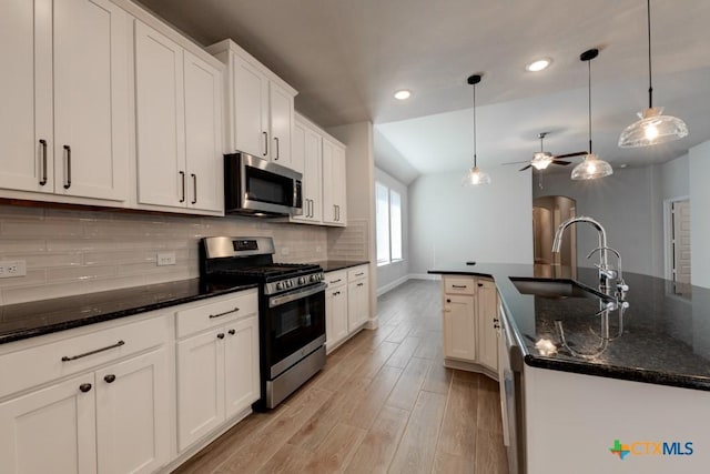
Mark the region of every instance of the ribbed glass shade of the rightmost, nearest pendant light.
[[686, 122], [672, 115], [662, 115], [662, 107], [639, 112], [640, 120], [623, 129], [619, 137], [620, 148], [650, 147], [668, 143], [688, 135]]

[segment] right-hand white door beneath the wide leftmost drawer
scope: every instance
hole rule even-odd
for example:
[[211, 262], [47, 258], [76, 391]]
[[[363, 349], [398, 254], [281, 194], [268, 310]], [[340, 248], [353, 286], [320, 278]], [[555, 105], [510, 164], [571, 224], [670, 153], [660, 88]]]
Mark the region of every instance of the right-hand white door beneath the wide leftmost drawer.
[[170, 456], [165, 346], [97, 372], [100, 473], [152, 473]]

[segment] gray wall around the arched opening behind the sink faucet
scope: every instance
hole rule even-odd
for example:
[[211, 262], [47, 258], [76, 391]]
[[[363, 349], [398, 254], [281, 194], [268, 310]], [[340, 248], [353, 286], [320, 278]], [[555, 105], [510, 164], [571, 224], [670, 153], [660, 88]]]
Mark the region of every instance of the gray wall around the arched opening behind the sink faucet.
[[[616, 169], [602, 180], [572, 181], [569, 174], [547, 174], [535, 198], [566, 195], [577, 200], [577, 215], [590, 215], [607, 230], [608, 244], [623, 259], [630, 272], [663, 276], [663, 201], [688, 196], [688, 157], [665, 164]], [[579, 266], [592, 266], [587, 253], [597, 246], [597, 234], [588, 225], [577, 228]], [[694, 249], [693, 249], [694, 250]], [[694, 283], [694, 269], [693, 269]]]

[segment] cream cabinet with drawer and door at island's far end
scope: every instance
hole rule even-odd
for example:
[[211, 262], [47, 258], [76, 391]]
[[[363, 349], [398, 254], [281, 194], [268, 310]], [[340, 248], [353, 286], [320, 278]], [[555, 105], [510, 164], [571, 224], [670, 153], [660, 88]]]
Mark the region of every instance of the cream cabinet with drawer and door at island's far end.
[[[497, 376], [498, 300], [495, 283], [476, 276], [445, 275], [442, 296], [447, 364]], [[457, 362], [467, 365], [457, 365]]]

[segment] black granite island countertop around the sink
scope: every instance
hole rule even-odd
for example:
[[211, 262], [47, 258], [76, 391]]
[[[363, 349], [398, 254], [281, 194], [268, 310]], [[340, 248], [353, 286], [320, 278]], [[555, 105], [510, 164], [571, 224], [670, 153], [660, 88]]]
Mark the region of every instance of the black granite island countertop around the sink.
[[625, 272], [629, 307], [622, 316], [618, 310], [609, 313], [605, 342], [598, 336], [599, 300], [521, 294], [510, 281], [570, 279], [596, 289], [596, 269], [462, 262], [429, 273], [493, 278], [530, 366], [710, 391], [710, 289]]

